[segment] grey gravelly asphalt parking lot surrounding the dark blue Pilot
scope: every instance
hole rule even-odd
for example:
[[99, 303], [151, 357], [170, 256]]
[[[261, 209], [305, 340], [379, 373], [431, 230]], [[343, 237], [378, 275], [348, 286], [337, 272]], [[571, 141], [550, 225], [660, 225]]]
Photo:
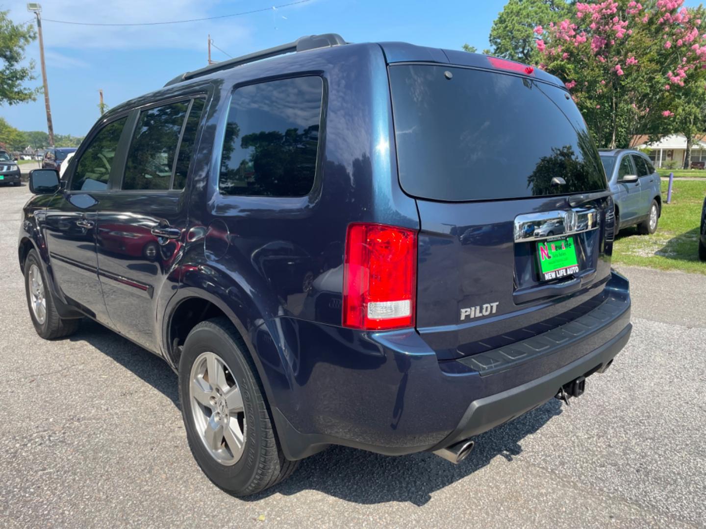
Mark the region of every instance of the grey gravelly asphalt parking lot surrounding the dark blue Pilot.
[[706, 524], [706, 276], [621, 269], [635, 327], [613, 367], [571, 406], [481, 435], [459, 466], [334, 447], [242, 500], [193, 461], [166, 363], [93, 322], [35, 334], [16, 252], [29, 197], [0, 188], [2, 526]]

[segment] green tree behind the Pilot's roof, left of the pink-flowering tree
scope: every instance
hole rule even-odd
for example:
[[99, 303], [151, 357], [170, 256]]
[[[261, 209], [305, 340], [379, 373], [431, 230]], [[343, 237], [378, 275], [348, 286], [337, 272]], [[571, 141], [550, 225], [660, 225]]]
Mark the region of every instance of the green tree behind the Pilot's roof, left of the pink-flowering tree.
[[534, 28], [573, 13], [564, 0], [509, 0], [490, 30], [492, 54], [522, 63], [539, 63]]

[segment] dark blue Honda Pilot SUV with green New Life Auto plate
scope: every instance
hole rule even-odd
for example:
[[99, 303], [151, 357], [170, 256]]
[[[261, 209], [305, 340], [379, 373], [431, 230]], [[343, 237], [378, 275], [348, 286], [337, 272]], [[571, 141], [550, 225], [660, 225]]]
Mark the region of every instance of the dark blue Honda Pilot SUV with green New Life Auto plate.
[[630, 336], [596, 147], [512, 61], [302, 37], [115, 107], [30, 185], [37, 332], [90, 317], [164, 358], [234, 494], [330, 444], [457, 463]]

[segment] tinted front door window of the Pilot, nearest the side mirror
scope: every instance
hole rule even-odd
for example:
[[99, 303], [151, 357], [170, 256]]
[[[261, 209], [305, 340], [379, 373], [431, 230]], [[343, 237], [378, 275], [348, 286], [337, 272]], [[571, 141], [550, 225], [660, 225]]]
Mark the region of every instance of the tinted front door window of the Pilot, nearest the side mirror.
[[76, 163], [72, 190], [101, 190], [108, 186], [110, 168], [127, 118], [108, 123], [90, 141]]

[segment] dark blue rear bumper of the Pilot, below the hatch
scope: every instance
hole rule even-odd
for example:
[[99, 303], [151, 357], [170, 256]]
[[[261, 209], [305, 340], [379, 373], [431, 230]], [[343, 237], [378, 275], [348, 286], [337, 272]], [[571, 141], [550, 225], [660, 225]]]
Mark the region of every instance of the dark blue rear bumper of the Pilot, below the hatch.
[[571, 380], [603, 372], [627, 343], [628, 281], [614, 272], [605, 291], [611, 310], [595, 315], [599, 324], [582, 332], [573, 325], [570, 339], [486, 370], [469, 358], [438, 360], [412, 330], [366, 333], [278, 319], [296, 351], [291, 379], [267, 362], [271, 340], [254, 338], [285, 455], [299, 459], [329, 444], [387, 455], [439, 449], [540, 406]]

